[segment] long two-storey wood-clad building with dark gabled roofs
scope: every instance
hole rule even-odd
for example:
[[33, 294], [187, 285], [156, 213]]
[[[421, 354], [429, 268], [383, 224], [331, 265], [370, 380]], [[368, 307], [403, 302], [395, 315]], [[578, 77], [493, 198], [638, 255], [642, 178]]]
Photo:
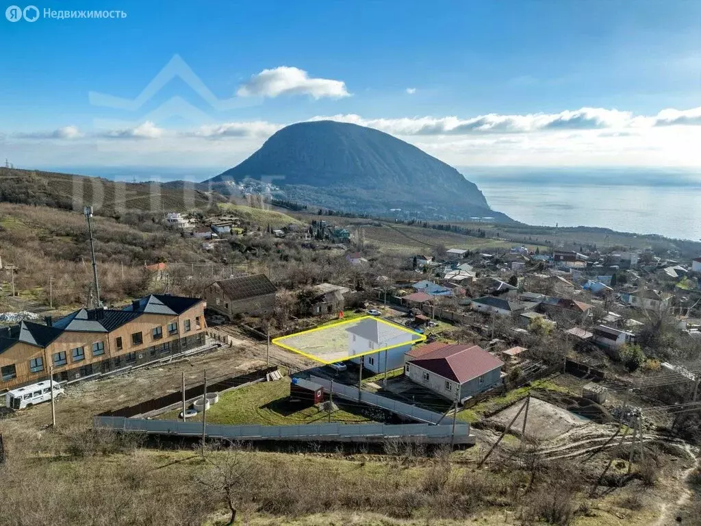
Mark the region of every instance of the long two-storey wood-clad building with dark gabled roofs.
[[0, 389], [72, 381], [205, 345], [205, 302], [149, 295], [123, 309], [80, 309], [46, 325], [0, 329]]

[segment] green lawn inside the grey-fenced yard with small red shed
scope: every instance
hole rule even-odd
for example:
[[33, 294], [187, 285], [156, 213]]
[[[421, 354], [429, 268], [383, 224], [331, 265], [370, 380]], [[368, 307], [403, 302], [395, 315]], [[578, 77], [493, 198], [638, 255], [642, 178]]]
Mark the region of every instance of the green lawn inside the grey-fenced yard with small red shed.
[[[328, 414], [316, 407], [299, 409], [290, 403], [290, 379], [277, 382], [260, 382], [223, 393], [219, 402], [207, 411], [207, 422], [212, 424], [261, 424], [276, 426], [285, 424], [311, 424], [328, 422]], [[340, 400], [334, 400], [339, 410], [332, 413], [331, 422], [372, 422], [360, 413], [349, 412]], [[353, 408], [355, 411], [355, 408]], [[160, 419], [176, 419], [180, 410], [162, 414]], [[195, 417], [199, 419], [200, 417]]]

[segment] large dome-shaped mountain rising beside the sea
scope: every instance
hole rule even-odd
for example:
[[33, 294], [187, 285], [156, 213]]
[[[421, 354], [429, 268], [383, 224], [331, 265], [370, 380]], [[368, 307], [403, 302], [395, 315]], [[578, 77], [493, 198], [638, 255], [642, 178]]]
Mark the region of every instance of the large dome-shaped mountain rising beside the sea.
[[205, 183], [271, 182], [287, 198], [334, 210], [423, 217], [509, 218], [455, 168], [387, 133], [349, 123], [292, 124], [235, 168]]

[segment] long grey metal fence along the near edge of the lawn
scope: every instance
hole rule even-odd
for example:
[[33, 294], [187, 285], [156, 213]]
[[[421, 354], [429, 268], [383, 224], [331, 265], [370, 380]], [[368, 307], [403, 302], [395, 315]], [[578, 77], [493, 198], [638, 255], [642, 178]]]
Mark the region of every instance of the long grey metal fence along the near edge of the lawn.
[[[139, 431], [158, 435], [201, 436], [200, 422], [147, 420], [124, 417], [93, 417], [95, 428]], [[207, 424], [207, 438], [229, 440], [299, 440], [319, 442], [382, 442], [411, 440], [419, 443], [474, 444], [468, 424], [456, 424], [455, 438], [451, 426], [430, 424], [302, 424], [297, 426], [227, 426]]]

